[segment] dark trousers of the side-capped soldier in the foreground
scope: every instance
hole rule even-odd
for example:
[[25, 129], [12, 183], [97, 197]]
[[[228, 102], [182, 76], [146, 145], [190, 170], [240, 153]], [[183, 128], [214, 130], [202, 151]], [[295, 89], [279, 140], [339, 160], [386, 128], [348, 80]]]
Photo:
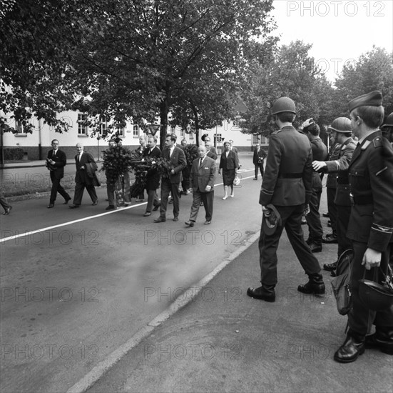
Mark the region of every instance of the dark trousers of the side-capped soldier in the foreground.
[[[390, 246], [392, 247], [392, 244], [390, 244]], [[366, 252], [367, 244], [352, 241], [352, 247], [354, 250], [354, 259], [352, 262], [350, 280], [352, 294], [352, 310], [348, 314], [348, 326], [350, 331], [355, 332], [360, 337], [364, 337], [367, 333], [369, 333], [372, 324], [377, 327], [393, 327], [393, 307], [390, 307], [389, 309], [384, 311], [374, 312], [370, 309], [367, 309], [362, 300], [360, 300], [359, 279], [363, 278], [365, 271], [364, 266], [362, 266], [362, 259], [364, 256], [364, 252]], [[389, 247], [386, 252], [382, 252], [381, 268], [385, 273], [387, 272], [387, 264], [389, 263], [388, 261]], [[374, 269], [371, 269], [369, 271], [366, 270], [366, 279], [372, 279], [373, 281], [375, 281], [373, 279]]]

